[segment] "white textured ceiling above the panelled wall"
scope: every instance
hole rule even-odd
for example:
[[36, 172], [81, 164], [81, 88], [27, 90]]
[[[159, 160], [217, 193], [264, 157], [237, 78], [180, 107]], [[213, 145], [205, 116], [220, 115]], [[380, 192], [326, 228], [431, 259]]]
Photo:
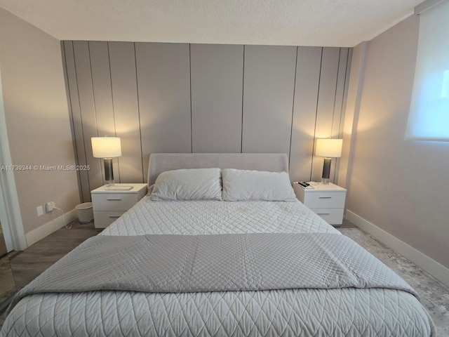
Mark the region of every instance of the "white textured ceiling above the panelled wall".
[[60, 40], [355, 46], [422, 0], [0, 0]]

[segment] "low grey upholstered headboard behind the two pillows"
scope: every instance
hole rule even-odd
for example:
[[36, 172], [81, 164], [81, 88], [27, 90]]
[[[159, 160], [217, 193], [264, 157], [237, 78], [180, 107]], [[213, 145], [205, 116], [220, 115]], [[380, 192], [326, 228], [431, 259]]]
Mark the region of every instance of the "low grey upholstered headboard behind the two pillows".
[[285, 153], [152, 153], [148, 185], [164, 171], [213, 167], [288, 173], [288, 158]]

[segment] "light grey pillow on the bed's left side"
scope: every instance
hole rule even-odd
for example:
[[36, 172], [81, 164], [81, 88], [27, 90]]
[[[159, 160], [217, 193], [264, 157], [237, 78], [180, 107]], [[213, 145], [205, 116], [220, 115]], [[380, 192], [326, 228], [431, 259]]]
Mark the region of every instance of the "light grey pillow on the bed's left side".
[[222, 200], [220, 169], [181, 169], [159, 174], [152, 200]]

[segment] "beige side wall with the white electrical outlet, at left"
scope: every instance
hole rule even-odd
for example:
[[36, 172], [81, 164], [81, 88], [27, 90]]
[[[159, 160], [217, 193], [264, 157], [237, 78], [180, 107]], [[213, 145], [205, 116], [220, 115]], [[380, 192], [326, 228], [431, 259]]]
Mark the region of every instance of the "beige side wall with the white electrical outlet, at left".
[[[4, 112], [14, 165], [74, 164], [60, 41], [0, 8], [0, 67]], [[15, 171], [25, 233], [60, 216], [36, 215], [55, 201], [79, 202], [74, 171]]]

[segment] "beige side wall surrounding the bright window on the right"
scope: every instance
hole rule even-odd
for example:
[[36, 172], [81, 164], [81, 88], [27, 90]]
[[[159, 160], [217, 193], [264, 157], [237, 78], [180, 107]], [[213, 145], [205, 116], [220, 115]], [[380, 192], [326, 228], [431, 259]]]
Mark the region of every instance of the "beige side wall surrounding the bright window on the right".
[[361, 96], [347, 209], [449, 267], [449, 143], [404, 140], [418, 30], [413, 15], [370, 41], [361, 83], [349, 87]]

